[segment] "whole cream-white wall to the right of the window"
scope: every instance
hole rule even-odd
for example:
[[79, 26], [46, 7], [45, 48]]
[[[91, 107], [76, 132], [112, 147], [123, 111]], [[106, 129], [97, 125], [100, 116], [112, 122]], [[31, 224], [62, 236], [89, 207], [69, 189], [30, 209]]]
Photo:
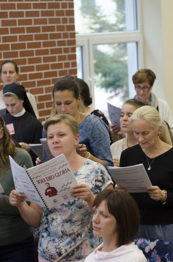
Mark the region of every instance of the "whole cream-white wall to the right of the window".
[[173, 112], [173, 1], [141, 0], [144, 68], [156, 75], [153, 92]]

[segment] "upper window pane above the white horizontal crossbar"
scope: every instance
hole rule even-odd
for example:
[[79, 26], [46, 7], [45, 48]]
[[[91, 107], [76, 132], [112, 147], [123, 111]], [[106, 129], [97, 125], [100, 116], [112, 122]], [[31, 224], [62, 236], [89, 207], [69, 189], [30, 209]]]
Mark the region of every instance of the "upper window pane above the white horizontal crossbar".
[[74, 0], [76, 34], [136, 30], [134, 0]]

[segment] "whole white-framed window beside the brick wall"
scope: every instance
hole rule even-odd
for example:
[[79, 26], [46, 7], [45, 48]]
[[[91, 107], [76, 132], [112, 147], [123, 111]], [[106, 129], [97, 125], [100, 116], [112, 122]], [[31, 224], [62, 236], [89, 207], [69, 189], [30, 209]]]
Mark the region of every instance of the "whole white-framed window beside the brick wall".
[[74, 0], [77, 76], [96, 109], [121, 107], [135, 95], [132, 75], [143, 62], [137, 10], [135, 0]]

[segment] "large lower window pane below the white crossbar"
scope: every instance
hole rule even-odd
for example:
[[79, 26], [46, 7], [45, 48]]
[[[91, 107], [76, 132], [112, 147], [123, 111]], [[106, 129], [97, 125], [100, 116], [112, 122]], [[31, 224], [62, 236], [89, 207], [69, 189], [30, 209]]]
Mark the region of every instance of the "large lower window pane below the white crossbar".
[[133, 84], [129, 81], [129, 67], [130, 64], [133, 64], [131, 68], [136, 67], [136, 64], [134, 56], [132, 60], [128, 53], [136, 52], [136, 43], [95, 45], [93, 51], [95, 106], [103, 110], [107, 109], [107, 102], [122, 106], [131, 96], [129, 82]]

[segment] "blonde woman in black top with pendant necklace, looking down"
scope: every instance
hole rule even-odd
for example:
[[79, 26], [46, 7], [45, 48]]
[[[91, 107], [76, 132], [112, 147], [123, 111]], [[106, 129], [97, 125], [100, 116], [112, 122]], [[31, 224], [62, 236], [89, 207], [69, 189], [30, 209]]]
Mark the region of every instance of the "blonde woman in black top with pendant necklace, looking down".
[[136, 109], [130, 119], [139, 144], [122, 151], [120, 167], [143, 163], [152, 184], [146, 193], [131, 193], [141, 215], [138, 237], [173, 243], [173, 148], [168, 128], [151, 106]]

